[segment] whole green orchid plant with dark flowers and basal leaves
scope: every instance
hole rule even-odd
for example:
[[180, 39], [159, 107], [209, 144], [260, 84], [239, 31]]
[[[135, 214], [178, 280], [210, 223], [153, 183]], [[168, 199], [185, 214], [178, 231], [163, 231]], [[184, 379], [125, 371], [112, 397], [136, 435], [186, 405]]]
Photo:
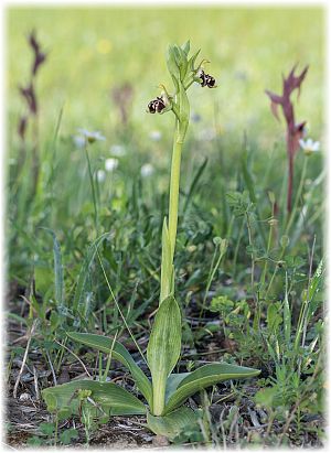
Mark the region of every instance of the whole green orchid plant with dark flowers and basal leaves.
[[106, 376], [113, 358], [125, 365], [145, 401], [105, 379], [104, 381], [74, 380], [43, 390], [49, 410], [57, 412], [62, 418], [82, 414], [82, 411], [86, 410], [93, 417], [106, 417], [106, 419], [109, 416], [146, 414], [149, 429], [169, 439], [173, 439], [185, 425], [196, 420], [196, 413], [183, 406], [190, 396], [224, 380], [250, 378], [260, 373], [257, 369], [225, 363], [204, 365], [191, 373], [173, 373], [181, 354], [182, 333], [181, 309], [174, 296], [173, 257], [178, 227], [181, 153], [190, 119], [186, 91], [193, 83], [199, 83], [202, 87], [215, 87], [214, 77], [204, 73], [203, 64], [206, 61], [195, 66], [200, 51], [192, 56], [189, 56], [189, 53], [190, 42], [182, 46], [169, 46], [167, 65], [173, 80], [173, 94], [169, 94], [161, 85], [161, 95], [148, 105], [150, 114], [163, 115], [172, 111], [175, 121], [169, 219], [164, 218], [162, 231], [159, 309], [151, 330], [147, 356], [145, 357], [139, 349], [151, 378], [142, 371], [116, 336], [109, 338], [88, 333], [67, 333], [71, 339], [108, 355]]

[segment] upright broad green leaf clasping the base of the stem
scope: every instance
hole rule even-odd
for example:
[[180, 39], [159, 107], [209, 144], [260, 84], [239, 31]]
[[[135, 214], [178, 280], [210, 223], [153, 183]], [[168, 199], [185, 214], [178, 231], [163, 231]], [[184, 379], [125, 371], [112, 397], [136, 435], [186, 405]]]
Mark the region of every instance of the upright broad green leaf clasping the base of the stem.
[[147, 347], [156, 416], [163, 411], [167, 379], [181, 353], [181, 327], [180, 309], [175, 299], [170, 295], [159, 306]]

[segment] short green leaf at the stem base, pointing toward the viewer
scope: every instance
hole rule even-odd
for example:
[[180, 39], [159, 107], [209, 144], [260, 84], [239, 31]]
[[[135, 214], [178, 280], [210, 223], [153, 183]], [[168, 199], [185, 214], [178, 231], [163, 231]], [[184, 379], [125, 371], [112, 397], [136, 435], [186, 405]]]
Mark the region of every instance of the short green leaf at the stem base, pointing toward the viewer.
[[197, 421], [197, 414], [190, 408], [180, 408], [164, 417], [147, 413], [148, 428], [156, 434], [166, 435], [170, 440], [180, 434], [185, 427], [192, 428]]

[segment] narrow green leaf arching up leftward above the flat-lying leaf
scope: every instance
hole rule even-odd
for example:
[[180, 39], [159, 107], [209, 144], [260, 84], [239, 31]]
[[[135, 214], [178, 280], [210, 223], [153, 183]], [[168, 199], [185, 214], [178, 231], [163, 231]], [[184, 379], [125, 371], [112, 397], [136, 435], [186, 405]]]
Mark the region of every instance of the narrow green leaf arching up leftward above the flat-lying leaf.
[[[67, 336], [74, 339], [75, 342], [79, 342], [86, 346], [100, 350], [102, 353], [110, 354], [113, 339], [108, 338], [107, 336], [95, 335], [95, 334], [82, 334], [82, 333], [76, 333], [76, 332], [67, 332]], [[115, 345], [113, 348], [113, 357], [129, 368], [138, 389], [145, 396], [147, 402], [151, 407], [152, 405], [151, 384], [148, 377], [138, 367], [138, 365], [131, 357], [130, 353], [119, 342], [115, 342]]]

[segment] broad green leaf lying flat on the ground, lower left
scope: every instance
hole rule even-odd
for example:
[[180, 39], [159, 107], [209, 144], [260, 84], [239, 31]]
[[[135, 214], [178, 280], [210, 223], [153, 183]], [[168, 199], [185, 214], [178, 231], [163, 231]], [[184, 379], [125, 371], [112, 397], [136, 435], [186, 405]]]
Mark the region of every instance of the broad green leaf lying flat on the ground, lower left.
[[[79, 397], [79, 390], [85, 391], [86, 398]], [[74, 380], [46, 388], [42, 396], [50, 412], [65, 413], [66, 418], [79, 414], [82, 401], [90, 405], [93, 417], [146, 413], [146, 407], [138, 398], [113, 382]]]

